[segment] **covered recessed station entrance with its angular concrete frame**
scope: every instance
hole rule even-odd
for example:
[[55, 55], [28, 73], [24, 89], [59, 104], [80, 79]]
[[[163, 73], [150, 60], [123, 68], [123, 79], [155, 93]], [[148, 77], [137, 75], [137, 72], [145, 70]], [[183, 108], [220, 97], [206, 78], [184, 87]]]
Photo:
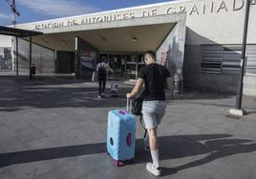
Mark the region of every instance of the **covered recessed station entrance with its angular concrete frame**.
[[[44, 34], [30, 38], [35, 44], [33, 62], [37, 67], [41, 65], [41, 71], [75, 72], [77, 78], [91, 78], [96, 63], [105, 55], [115, 73], [133, 75], [142, 65], [143, 56], [139, 55], [154, 50], [160, 64], [181, 73], [185, 18], [185, 13], [176, 13], [90, 24], [63, 23], [65, 26], [60, 27], [48, 26], [48, 23], [66, 21], [42, 22], [44, 28], [38, 30]], [[38, 24], [26, 27], [32, 29]]]

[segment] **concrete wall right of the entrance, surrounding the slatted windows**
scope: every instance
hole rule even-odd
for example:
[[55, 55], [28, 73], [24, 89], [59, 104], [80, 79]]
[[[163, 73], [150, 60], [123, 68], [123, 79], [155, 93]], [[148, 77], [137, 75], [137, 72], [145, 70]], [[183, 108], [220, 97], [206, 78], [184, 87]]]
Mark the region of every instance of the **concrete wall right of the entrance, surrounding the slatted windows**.
[[[196, 1], [195, 1], [196, 2]], [[207, 1], [198, 1], [201, 2]], [[217, 2], [217, 1], [216, 1]], [[217, 90], [236, 93], [239, 76], [237, 74], [200, 73], [200, 45], [242, 44], [245, 3], [244, 1], [221, 1], [223, 9], [219, 12], [197, 15], [188, 14], [186, 30], [186, 46], [184, 57], [184, 87], [193, 89]], [[247, 43], [256, 44], [255, 2], [250, 7], [250, 18]], [[193, 3], [192, 3], [193, 4]], [[244, 5], [244, 6], [243, 6]], [[199, 5], [197, 5], [200, 7]], [[232, 7], [231, 9], [228, 7]], [[243, 8], [242, 8], [243, 7]], [[236, 10], [242, 8], [241, 10]], [[255, 59], [256, 61], [256, 59]], [[244, 93], [256, 95], [256, 76], [245, 76]]]

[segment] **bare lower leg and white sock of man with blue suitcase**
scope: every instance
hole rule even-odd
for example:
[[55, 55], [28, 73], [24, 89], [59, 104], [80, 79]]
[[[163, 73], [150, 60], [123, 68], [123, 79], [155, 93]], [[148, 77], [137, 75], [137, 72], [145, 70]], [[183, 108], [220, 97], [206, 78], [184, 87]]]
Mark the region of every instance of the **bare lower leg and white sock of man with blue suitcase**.
[[156, 168], [160, 167], [160, 157], [159, 157], [159, 139], [158, 139], [158, 127], [154, 129], [147, 129], [149, 136], [149, 147], [153, 160], [153, 165]]

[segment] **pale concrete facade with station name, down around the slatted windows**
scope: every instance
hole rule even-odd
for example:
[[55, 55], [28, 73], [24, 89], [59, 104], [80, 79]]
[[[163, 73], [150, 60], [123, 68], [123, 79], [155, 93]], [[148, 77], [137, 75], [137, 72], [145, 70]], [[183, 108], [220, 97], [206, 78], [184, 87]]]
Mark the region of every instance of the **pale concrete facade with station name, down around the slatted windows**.
[[[256, 0], [250, 0], [250, 3], [247, 44], [256, 46], [254, 16]], [[183, 26], [186, 27], [185, 35], [179, 36], [178, 33], [182, 33], [182, 29], [180, 29], [182, 23], [178, 23], [169, 33], [170, 36], [166, 36], [165, 42], [162, 42], [162, 46], [157, 51], [159, 60], [162, 51], [168, 50], [172, 51], [172, 53], [167, 53], [168, 60], [176, 61], [177, 56], [184, 58], [184, 67], [180, 69], [183, 71], [184, 87], [186, 88], [235, 92], [238, 88], [238, 73], [213, 74], [201, 71], [201, 48], [204, 45], [225, 47], [226, 45], [239, 46], [242, 44], [245, 0], [181, 0], [21, 24], [17, 27], [26, 30], [39, 30], [52, 36], [56, 34], [57, 37], [57, 34], [61, 32], [68, 34], [71, 31], [123, 28], [127, 25], [132, 27], [145, 23], [160, 24], [162, 19], [168, 17], [166, 15], [173, 15], [172, 21], [179, 22], [183, 13], [186, 14], [185, 21], [183, 21]], [[181, 43], [178, 46], [173, 43], [179, 41]], [[172, 48], [175, 47], [183, 49], [183, 41], [185, 49], [180, 50], [181, 55], [179, 55], [179, 50], [173, 52], [175, 50]], [[166, 46], [166, 42], [172, 45]], [[61, 43], [59, 43], [60, 46], [62, 46]], [[256, 61], [256, 59], [253, 60]], [[169, 69], [173, 70], [170, 67]], [[245, 75], [245, 94], [256, 95], [255, 76], [256, 74]]]

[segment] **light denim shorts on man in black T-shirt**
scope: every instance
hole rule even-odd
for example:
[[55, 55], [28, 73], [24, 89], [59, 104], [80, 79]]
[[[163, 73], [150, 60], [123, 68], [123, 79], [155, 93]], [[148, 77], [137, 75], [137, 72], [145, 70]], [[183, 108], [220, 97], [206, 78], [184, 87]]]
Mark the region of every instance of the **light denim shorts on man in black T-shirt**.
[[143, 101], [142, 114], [146, 129], [154, 129], [160, 125], [165, 113], [166, 103], [164, 101]]

